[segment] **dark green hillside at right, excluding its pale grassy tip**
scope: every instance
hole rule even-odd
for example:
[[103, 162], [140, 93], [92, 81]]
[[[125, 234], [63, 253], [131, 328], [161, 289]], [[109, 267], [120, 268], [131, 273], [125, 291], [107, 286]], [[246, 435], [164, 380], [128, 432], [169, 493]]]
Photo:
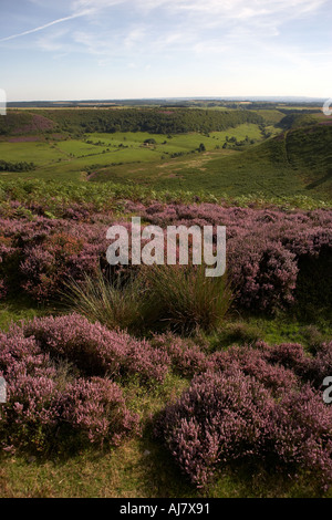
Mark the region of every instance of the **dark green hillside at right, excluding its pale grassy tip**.
[[[210, 193], [266, 196], [310, 195], [332, 198], [332, 126], [313, 125], [288, 131], [246, 152], [214, 158], [200, 167], [174, 168], [174, 178], [158, 185], [179, 184]], [[208, 159], [208, 156], [206, 157]]]

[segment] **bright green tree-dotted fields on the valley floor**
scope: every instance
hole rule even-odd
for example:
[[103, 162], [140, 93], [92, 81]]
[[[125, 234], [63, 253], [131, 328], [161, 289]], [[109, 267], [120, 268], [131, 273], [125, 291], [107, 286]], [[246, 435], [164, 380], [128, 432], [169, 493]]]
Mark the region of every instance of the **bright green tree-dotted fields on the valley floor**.
[[[221, 148], [226, 137], [236, 137], [243, 141], [262, 141], [262, 135], [257, 125], [247, 123], [236, 128], [224, 132], [212, 132], [210, 134], [180, 134], [160, 135], [143, 132], [136, 133], [93, 133], [86, 134], [81, 139], [65, 138], [40, 142], [0, 142], [0, 158], [8, 162], [32, 162], [35, 170], [29, 174], [2, 173], [7, 178], [37, 177], [44, 179], [68, 179], [77, 180], [82, 174], [92, 169], [114, 167], [122, 164], [141, 163], [166, 163], [174, 154], [189, 156], [197, 152], [203, 143], [207, 152]], [[156, 144], [145, 145], [146, 139], [153, 138]], [[89, 142], [89, 143], [87, 143]], [[225, 155], [224, 150], [219, 155]], [[189, 155], [190, 154], [190, 155]]]

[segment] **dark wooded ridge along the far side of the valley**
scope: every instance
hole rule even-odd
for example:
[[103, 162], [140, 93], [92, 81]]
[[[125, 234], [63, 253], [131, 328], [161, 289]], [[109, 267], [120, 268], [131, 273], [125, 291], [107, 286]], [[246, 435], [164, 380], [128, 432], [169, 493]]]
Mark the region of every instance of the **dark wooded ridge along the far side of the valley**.
[[9, 111], [0, 118], [0, 135], [60, 131], [70, 134], [92, 132], [149, 132], [185, 134], [214, 132], [243, 123], [261, 124], [264, 119], [251, 111], [206, 111], [189, 108], [108, 108]]

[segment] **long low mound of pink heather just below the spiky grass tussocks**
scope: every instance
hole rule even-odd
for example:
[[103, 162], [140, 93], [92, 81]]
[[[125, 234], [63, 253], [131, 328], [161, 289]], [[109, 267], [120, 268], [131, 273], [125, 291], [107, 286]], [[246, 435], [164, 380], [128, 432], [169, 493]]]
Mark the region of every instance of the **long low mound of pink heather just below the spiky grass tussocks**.
[[[23, 323], [21, 330], [43, 352], [69, 360], [89, 376], [137, 375], [144, 382], [163, 382], [168, 370], [169, 360], [162, 350], [80, 314], [38, 318]], [[15, 327], [11, 333], [15, 334]]]

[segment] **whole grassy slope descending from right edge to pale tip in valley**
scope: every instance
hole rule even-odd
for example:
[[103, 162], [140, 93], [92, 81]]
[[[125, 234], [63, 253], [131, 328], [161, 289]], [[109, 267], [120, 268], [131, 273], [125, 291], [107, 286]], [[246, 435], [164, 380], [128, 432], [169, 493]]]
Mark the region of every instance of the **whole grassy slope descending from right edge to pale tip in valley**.
[[129, 179], [154, 188], [206, 189], [238, 196], [310, 195], [331, 200], [332, 126], [288, 131], [240, 153], [210, 150], [164, 164], [105, 168], [94, 180]]

